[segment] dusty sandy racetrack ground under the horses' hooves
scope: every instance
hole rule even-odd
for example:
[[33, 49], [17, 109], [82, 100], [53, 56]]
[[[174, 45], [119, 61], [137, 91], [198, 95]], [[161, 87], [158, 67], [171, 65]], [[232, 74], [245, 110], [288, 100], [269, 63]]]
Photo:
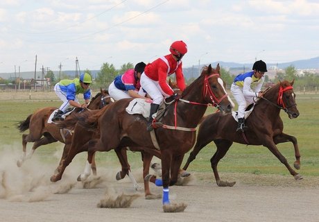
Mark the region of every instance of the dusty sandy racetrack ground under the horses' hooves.
[[[0, 153], [0, 221], [319, 221], [319, 178], [221, 173], [234, 187], [217, 187], [212, 173], [192, 173], [186, 185], [170, 187], [172, 203], [186, 203], [184, 212], [164, 213], [162, 200], [146, 200], [128, 178], [115, 180], [117, 169], [98, 167], [98, 177], [77, 182], [83, 164], [72, 162], [60, 182], [49, 178], [54, 164], [37, 157], [21, 168], [19, 152]], [[82, 166], [81, 166], [82, 165]], [[141, 169], [133, 170], [139, 185]], [[151, 185], [154, 194], [162, 188]], [[136, 196], [126, 208], [100, 208], [101, 200], [121, 194]], [[123, 200], [121, 200], [123, 201]]]

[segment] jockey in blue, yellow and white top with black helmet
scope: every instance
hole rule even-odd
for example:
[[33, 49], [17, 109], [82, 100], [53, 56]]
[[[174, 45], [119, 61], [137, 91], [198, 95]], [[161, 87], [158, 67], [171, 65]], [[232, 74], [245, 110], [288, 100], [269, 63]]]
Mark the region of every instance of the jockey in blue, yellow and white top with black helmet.
[[[262, 60], [256, 61], [252, 66], [252, 70], [236, 76], [232, 87], [230, 87], [230, 91], [238, 103], [238, 126], [236, 132], [239, 130], [244, 131], [248, 128], [245, 126], [245, 108], [250, 103], [254, 103], [255, 98], [263, 96], [261, 87], [264, 83], [264, 74], [267, 71], [266, 63]], [[252, 85], [255, 85], [254, 89], [252, 89]]]

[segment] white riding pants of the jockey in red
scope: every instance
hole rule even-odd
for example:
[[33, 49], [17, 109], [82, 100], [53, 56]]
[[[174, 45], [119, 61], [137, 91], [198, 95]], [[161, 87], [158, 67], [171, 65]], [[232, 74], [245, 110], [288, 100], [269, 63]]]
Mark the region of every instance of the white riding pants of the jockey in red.
[[163, 96], [169, 96], [162, 90], [158, 81], [154, 81], [148, 78], [148, 76], [146, 76], [145, 73], [141, 74], [140, 81], [141, 87], [143, 87], [143, 89], [147, 92], [150, 98], [153, 99], [153, 103], [160, 105], [160, 103], [162, 103], [162, 101], [164, 100]]

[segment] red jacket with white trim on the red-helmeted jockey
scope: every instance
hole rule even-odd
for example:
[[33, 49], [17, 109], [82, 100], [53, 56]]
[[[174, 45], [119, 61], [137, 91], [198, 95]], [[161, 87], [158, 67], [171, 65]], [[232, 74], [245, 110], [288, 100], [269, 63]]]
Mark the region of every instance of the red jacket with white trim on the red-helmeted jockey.
[[[168, 62], [168, 65], [166, 62]], [[170, 96], [173, 95], [174, 92], [171, 87], [169, 87], [169, 84], [167, 84], [166, 77], [174, 72], [178, 88], [183, 91], [186, 85], [182, 74], [182, 61], [177, 62], [172, 54], [157, 58], [154, 62], [148, 63], [144, 69], [146, 76], [154, 81], [158, 81], [162, 90]]]

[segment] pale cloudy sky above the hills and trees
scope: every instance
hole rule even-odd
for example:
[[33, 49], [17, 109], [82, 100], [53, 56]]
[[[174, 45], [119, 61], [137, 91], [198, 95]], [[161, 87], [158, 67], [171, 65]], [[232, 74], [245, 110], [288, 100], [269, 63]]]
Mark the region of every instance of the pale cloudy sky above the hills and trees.
[[187, 43], [183, 67], [319, 56], [318, 0], [1, 0], [0, 73], [117, 69]]

